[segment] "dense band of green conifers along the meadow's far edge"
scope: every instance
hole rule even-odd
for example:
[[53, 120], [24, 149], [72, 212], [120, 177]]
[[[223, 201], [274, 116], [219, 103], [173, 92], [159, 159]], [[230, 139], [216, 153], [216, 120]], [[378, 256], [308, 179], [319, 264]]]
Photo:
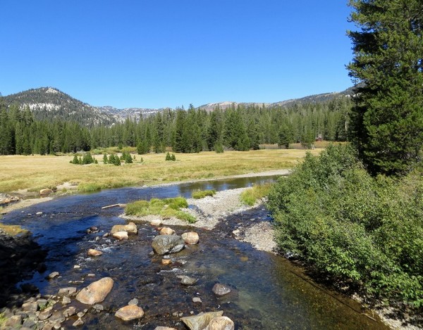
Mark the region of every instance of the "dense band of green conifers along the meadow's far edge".
[[49, 154], [133, 146], [138, 153], [246, 151], [259, 144], [312, 146], [320, 137], [345, 141], [352, 103], [342, 97], [324, 103], [288, 107], [232, 106], [212, 112], [163, 110], [156, 115], [116, 125], [87, 128], [77, 122], [35, 120], [29, 108], [0, 105], [0, 154]]

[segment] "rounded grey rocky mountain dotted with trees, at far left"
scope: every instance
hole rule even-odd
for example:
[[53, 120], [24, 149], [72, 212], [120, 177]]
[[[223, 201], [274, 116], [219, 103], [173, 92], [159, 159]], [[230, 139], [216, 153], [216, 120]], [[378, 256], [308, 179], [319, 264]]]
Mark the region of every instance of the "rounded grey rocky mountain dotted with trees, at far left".
[[79, 122], [81, 125], [113, 125], [118, 120], [111, 113], [106, 113], [90, 106], [52, 87], [41, 87], [21, 91], [3, 97], [6, 106], [18, 104], [28, 106], [37, 120], [66, 120]]

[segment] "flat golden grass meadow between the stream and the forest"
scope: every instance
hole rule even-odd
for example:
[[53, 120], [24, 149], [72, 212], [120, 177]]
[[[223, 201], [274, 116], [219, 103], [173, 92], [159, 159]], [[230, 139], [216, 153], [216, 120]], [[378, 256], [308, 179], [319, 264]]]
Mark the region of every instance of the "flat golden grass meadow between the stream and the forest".
[[[319, 149], [311, 152], [319, 153]], [[90, 165], [69, 163], [72, 155], [0, 156], [0, 192], [56, 189], [65, 182], [78, 185], [79, 191], [94, 191], [281, 170], [297, 164], [305, 156], [305, 150], [264, 149], [175, 155], [175, 162], [165, 161], [165, 153], [136, 155], [133, 164], [122, 166], [104, 165], [102, 155], [95, 156], [99, 164]]]

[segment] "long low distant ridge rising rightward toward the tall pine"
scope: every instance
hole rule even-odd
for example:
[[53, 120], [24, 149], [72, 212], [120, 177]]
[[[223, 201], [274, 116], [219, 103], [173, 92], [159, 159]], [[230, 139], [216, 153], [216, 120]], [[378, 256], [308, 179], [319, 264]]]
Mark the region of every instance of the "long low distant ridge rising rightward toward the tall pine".
[[310, 96], [305, 96], [300, 99], [289, 99], [286, 101], [280, 101], [275, 103], [258, 103], [258, 102], [231, 102], [231, 101], [224, 101], [224, 102], [218, 102], [218, 103], [207, 103], [203, 106], [199, 106], [198, 108], [204, 109], [207, 111], [214, 110], [217, 106], [221, 108], [221, 110], [226, 110], [227, 108], [234, 105], [235, 107], [239, 105], [242, 106], [260, 106], [264, 108], [274, 108], [276, 106], [288, 106], [292, 105], [294, 103], [320, 103], [325, 101], [330, 101], [331, 99], [336, 99], [338, 97], [350, 97], [354, 94], [354, 87], [350, 87], [348, 89], [345, 89], [345, 91], [336, 91], [333, 93], [324, 93], [324, 94], [315, 94]]

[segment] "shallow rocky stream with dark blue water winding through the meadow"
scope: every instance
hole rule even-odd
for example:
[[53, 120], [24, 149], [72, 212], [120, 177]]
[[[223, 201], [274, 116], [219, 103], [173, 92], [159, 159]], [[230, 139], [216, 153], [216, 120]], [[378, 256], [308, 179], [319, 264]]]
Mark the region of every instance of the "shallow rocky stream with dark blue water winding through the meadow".
[[[42, 295], [57, 294], [59, 288], [68, 286], [80, 290], [102, 277], [114, 279], [114, 288], [102, 302], [104, 311], [96, 312], [72, 300], [71, 305], [78, 310], [89, 310], [80, 329], [186, 329], [180, 322], [181, 315], [215, 310], [223, 310], [223, 315], [233, 319], [235, 329], [388, 329], [365, 316], [355, 301], [314, 284], [285, 258], [237, 241], [233, 230], [271, 221], [263, 206], [229, 215], [212, 231], [172, 226], [177, 234], [197, 231], [200, 243], [170, 255], [171, 265], [161, 265], [161, 257], [152, 255], [151, 242], [157, 231], [149, 223], [137, 223], [138, 234], [128, 241], [103, 237], [114, 224], [126, 223], [118, 217], [123, 212], [121, 208], [102, 210], [104, 205], [150, 198], [190, 198], [196, 190], [221, 191], [274, 179], [225, 179], [63, 196], [10, 212], [3, 222], [28, 229], [48, 251], [47, 270], [42, 274], [35, 272], [25, 280], [37, 286]], [[98, 227], [99, 232], [87, 234], [90, 227]], [[88, 248], [97, 248], [104, 254], [88, 258]], [[60, 277], [47, 280], [51, 272], [59, 272]], [[195, 277], [197, 284], [183, 286], [178, 275]], [[230, 286], [233, 292], [216, 297], [212, 292], [216, 283]], [[194, 297], [201, 298], [202, 303], [193, 303]], [[139, 300], [145, 316], [129, 323], [114, 317], [114, 312], [133, 298]], [[75, 319], [70, 319], [63, 326], [71, 328], [73, 322]]]

